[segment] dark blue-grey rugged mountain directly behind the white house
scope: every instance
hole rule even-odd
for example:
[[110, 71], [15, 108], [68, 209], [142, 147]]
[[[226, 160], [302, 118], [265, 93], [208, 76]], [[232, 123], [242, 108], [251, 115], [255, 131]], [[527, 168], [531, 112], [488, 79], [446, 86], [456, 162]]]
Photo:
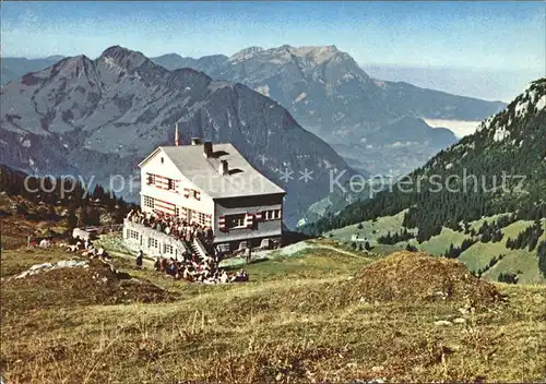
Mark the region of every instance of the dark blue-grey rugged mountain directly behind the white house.
[[[354, 173], [270, 98], [191, 69], [168, 71], [121, 47], [24, 75], [2, 87], [1, 109], [0, 163], [27, 172], [93, 175], [106, 184], [114, 175], [136, 175], [142, 158], [173, 142], [176, 122], [182, 143], [192, 136], [230, 142], [287, 190], [288, 226], [330, 193], [331, 172]], [[311, 179], [300, 179], [302, 172]]]

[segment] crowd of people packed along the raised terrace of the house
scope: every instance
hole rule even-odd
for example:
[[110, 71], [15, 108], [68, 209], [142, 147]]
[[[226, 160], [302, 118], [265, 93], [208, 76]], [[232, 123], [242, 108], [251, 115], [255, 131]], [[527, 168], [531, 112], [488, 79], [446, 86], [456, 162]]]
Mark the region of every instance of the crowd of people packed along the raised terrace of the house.
[[205, 242], [213, 241], [213, 231], [211, 227], [202, 226], [198, 223], [188, 223], [178, 217], [132, 209], [127, 215], [127, 218], [133, 223], [142, 224], [143, 226], [173, 236], [178, 240], [192, 242], [193, 239], [198, 237]]

